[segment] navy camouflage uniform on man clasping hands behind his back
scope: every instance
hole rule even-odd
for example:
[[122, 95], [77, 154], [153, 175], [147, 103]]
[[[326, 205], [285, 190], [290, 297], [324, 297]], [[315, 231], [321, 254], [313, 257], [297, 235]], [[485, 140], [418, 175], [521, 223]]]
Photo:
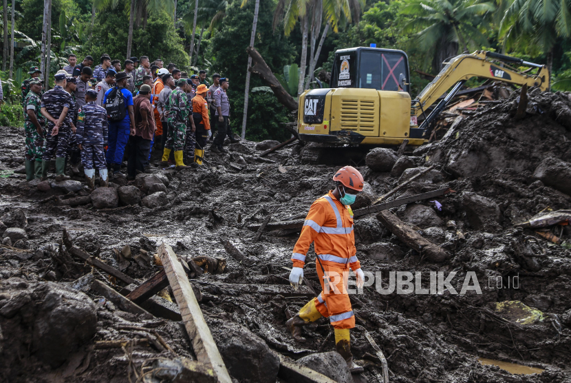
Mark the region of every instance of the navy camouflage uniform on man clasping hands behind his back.
[[[45, 107], [46, 112], [50, 114], [52, 118], [57, 120], [64, 107], [69, 109], [67, 113], [72, 111], [72, 102], [72, 96], [65, 92], [63, 87], [56, 85], [53, 89], [48, 90], [43, 94], [41, 107]], [[43, 161], [50, 161], [54, 154], [56, 155], [56, 158], [65, 158], [67, 148], [69, 147], [69, 139], [72, 134], [72, 128], [69, 125], [69, 118], [64, 118], [63, 123], [61, 123], [59, 127], [58, 134], [55, 136], [52, 136], [53, 129], [54, 123], [47, 121], [45, 149], [42, 155]]]

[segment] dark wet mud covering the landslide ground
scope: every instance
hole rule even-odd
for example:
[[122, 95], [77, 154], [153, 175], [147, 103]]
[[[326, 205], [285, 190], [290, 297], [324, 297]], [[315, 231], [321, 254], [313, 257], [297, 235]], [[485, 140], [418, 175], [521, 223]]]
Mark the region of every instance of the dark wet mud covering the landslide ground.
[[[430, 201], [391, 210], [449, 251], [449, 260], [429, 262], [422, 253], [396, 239], [373, 214], [355, 220], [357, 256], [363, 270], [376, 273], [381, 283], [352, 296], [352, 304], [357, 323], [383, 349], [391, 382], [571, 382], [571, 251], [564, 246], [564, 241], [571, 242], [571, 231], [559, 225], [552, 229], [563, 241], [563, 245], [556, 245], [533, 230], [515, 226], [544, 209], [570, 208], [569, 194], [543, 183], [534, 174], [545, 158], [571, 161], [571, 101], [569, 94], [530, 91], [528, 114], [516, 121], [516, 97], [514, 94], [502, 104], [464, 117], [440, 143], [416, 149], [411, 156], [415, 166], [435, 165], [435, 170], [392, 197], [442, 187], [455, 190], [435, 199], [442, 204], [441, 210]], [[285, 322], [308, 297], [271, 293], [274, 285], [288, 287], [288, 271], [283, 267], [291, 267], [290, 253], [297, 234], [265, 232], [258, 242], [252, 242], [255, 231], [248, 225], [263, 221], [268, 214], [271, 222], [305, 214], [316, 198], [332, 188], [331, 177], [337, 167], [303, 164], [290, 155], [299, 150], [291, 148], [268, 155], [270, 161], [260, 160], [256, 154], [261, 150], [255, 149], [256, 144], [243, 142], [230, 145], [229, 154], [207, 154], [208, 167], [182, 172], [157, 170], [168, 184], [166, 204], [160, 207], [119, 205], [118, 209], [102, 211], [91, 205], [67, 207], [58, 206], [54, 200], [42, 202], [67, 192], [53, 188], [42, 192], [34, 182], [13, 178], [12, 172], [23, 165], [18, 159], [14, 161], [23, 154], [23, 130], [2, 127], [0, 134], [0, 220], [8, 220], [9, 227], [18, 225], [17, 219], [10, 217], [21, 210], [27, 218], [21, 226], [28, 236], [12, 242], [14, 247], [0, 250], [3, 381], [128, 382], [130, 377], [135, 382], [143, 362], [173, 355], [152, 344], [125, 350], [94, 348], [101, 340], [151, 338], [149, 331], [132, 327], [156, 330], [175, 353], [195, 358], [180, 322], [126, 313], [88, 286], [82, 291], [76, 284], [74, 289], [74, 281], [87, 273], [110, 285], [117, 281], [63, 251], [63, 229], [74, 245], [140, 282], [159, 267], [132, 258], [118, 261], [113, 249], [129, 245], [133, 254], [141, 249], [153, 254], [166, 242], [182, 256], [226, 258], [228, 272], [191, 279], [201, 290], [201, 309], [220, 349], [236, 353], [228, 346], [233, 340], [224, 340], [224, 334], [218, 333], [226, 328], [232, 338], [250, 331], [244, 338], [248, 342], [258, 337], [273, 351], [294, 359], [334, 349], [332, 329], [325, 318], [304, 327], [307, 342], [293, 342]], [[279, 165], [285, 173], [279, 171]], [[362, 165], [358, 169], [370, 185], [369, 192], [376, 196], [405, 179], [371, 172], [364, 162]], [[125, 181], [114, 183], [117, 185], [112, 186], [118, 187]], [[73, 196], [84, 193], [78, 191]], [[238, 262], [230, 256], [222, 240], [230, 240], [247, 260]], [[319, 290], [314, 257], [312, 248], [305, 276]], [[391, 271], [413, 276], [419, 272], [421, 287], [427, 289], [431, 272], [440, 271], [444, 277], [455, 273], [450, 282], [453, 289], [383, 294]], [[473, 273], [482, 293], [453, 293], [462, 290], [468, 273]], [[248, 284], [268, 287], [262, 293], [250, 293]], [[52, 297], [51, 306], [46, 305], [46, 296]], [[541, 312], [537, 315], [541, 320], [518, 322], [517, 317], [498, 309], [498, 302], [513, 301], [519, 302], [517, 307], [525, 305]], [[53, 326], [58, 318], [54, 311], [58, 310], [69, 312], [72, 323], [76, 312], [83, 313], [80, 318], [95, 322], [87, 321], [62, 333], [70, 339], [58, 349], [65, 358], [54, 360], [45, 357], [50, 355], [45, 349], [50, 344], [40, 340], [63, 331]], [[246, 344], [245, 340], [236, 343]], [[263, 347], [249, 350], [261, 352]], [[352, 351], [365, 366], [365, 373], [354, 375], [355, 382], [378, 382], [380, 362], [358, 330], [352, 331]], [[483, 366], [478, 357], [545, 371], [512, 375], [496, 366]], [[233, 355], [225, 360], [228, 364], [239, 358]], [[268, 362], [267, 368], [271, 365]], [[230, 371], [237, 368], [228, 366]], [[245, 373], [239, 381], [255, 381], [252, 379], [253, 375], [248, 378]], [[275, 381], [274, 377], [270, 376], [270, 381]]]

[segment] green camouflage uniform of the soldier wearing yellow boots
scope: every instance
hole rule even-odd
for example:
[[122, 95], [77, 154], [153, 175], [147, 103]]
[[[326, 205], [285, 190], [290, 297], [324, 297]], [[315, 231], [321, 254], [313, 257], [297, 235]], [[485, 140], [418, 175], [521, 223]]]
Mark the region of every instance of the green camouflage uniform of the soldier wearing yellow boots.
[[178, 152], [184, 149], [186, 121], [188, 121], [188, 114], [191, 111], [186, 93], [180, 87], [177, 87], [169, 94], [169, 103], [166, 110], [169, 112], [169, 132], [164, 147]]

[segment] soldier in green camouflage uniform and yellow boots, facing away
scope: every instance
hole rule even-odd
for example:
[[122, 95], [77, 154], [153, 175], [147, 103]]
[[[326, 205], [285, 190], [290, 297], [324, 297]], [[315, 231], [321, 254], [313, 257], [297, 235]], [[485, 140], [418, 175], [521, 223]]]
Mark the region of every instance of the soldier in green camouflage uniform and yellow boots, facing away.
[[186, 79], [178, 80], [177, 87], [169, 94], [169, 102], [166, 105], [166, 112], [169, 115], [167, 118], [169, 132], [167, 133], [166, 145], [164, 145], [160, 164], [162, 166], [169, 165], [169, 155], [171, 150], [174, 149], [177, 170], [186, 168], [182, 161], [182, 149], [184, 149], [184, 140], [186, 138], [186, 121], [188, 121], [188, 116], [191, 114], [188, 97], [186, 97], [188, 87], [190, 85], [188, 85]]

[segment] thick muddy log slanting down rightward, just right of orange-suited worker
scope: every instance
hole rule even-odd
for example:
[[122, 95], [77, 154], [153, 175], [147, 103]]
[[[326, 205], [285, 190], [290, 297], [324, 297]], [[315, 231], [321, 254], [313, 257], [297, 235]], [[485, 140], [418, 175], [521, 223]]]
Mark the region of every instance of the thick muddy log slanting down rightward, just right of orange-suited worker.
[[405, 242], [408, 247], [418, 251], [423, 257], [425, 256], [432, 262], [443, 262], [451, 257], [448, 251], [422, 237], [414, 231], [412, 227], [402, 222], [402, 220], [390, 211], [379, 211], [377, 219], [384, 227], [391, 231], [396, 238]]

